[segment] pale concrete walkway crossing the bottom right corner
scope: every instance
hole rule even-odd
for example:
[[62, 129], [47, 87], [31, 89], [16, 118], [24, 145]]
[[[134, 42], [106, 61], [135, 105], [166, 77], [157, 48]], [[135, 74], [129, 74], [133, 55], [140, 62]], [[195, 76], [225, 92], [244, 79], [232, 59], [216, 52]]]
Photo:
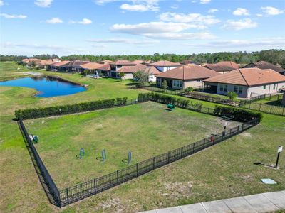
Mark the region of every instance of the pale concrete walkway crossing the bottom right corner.
[[223, 213], [223, 212], [276, 212], [285, 209], [285, 190], [210, 202], [199, 202], [180, 207], [155, 209], [145, 213]]

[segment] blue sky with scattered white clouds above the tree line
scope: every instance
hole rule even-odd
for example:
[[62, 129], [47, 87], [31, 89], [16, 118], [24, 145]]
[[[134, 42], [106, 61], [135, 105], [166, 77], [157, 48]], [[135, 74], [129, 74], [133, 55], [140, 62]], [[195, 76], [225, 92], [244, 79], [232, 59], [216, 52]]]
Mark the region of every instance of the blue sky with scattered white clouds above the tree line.
[[285, 48], [284, 0], [0, 0], [0, 53], [214, 53]]

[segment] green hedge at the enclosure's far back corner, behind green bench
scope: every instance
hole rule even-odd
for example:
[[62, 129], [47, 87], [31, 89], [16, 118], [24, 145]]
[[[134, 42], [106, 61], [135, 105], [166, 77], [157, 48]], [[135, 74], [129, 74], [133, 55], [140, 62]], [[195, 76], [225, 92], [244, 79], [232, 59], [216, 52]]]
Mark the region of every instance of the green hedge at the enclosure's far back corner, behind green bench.
[[186, 108], [189, 104], [189, 100], [185, 100], [182, 98], [176, 98], [165, 94], [159, 94], [159, 93], [140, 93], [138, 94], [138, 102], [160, 102], [163, 104], [174, 104], [176, 107], [183, 107]]

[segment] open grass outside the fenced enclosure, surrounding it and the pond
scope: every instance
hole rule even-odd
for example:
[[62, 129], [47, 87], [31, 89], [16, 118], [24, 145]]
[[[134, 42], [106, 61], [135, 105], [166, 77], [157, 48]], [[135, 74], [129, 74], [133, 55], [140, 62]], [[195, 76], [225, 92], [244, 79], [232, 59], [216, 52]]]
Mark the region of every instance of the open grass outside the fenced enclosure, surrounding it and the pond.
[[[8, 65], [11, 68], [2, 75], [3, 67]], [[17, 72], [14, 63], [1, 62], [0, 67], [1, 80], [9, 79]], [[36, 93], [33, 89], [0, 87], [0, 212], [138, 212], [285, 189], [284, 153], [281, 153], [278, 170], [254, 165], [255, 162], [274, 165], [276, 148], [285, 146], [285, 118], [264, 114], [261, 124], [239, 136], [69, 207], [57, 209], [49, 204], [19, 128], [11, 120], [14, 110], [111, 97], [135, 98], [141, 91], [128, 89], [130, 81], [125, 80], [93, 80], [63, 73], [53, 75], [90, 84], [89, 89], [66, 97], [40, 98], [33, 97]], [[203, 103], [204, 107], [215, 105]], [[264, 185], [260, 178], [272, 178], [278, 184]]]

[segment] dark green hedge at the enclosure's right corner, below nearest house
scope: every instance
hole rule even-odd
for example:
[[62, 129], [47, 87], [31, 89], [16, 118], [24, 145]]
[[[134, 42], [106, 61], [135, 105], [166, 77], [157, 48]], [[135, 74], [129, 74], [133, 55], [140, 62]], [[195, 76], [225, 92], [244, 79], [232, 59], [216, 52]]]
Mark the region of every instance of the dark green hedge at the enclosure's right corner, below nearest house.
[[257, 119], [260, 122], [262, 119], [262, 114], [260, 112], [248, 111], [234, 107], [215, 106], [214, 114], [217, 116], [231, 117], [234, 121], [241, 122], [251, 121], [252, 119]]

